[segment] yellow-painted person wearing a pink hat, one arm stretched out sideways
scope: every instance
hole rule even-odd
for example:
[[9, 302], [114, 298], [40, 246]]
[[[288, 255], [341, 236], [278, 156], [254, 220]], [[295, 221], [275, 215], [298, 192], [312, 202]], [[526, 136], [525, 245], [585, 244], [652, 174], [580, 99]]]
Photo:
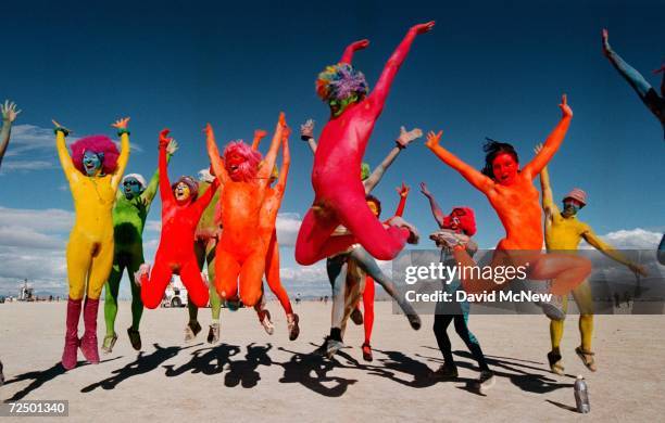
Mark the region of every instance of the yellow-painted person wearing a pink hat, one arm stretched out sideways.
[[[536, 153], [542, 146], [536, 148]], [[577, 220], [577, 214], [587, 205], [587, 193], [576, 188], [563, 198], [563, 210], [554, 204], [552, 185], [548, 167], [540, 171], [540, 187], [542, 191], [542, 209], [545, 214], [544, 234], [548, 251], [573, 253], [577, 251], [581, 240], [605, 254], [607, 257], [627, 266], [636, 274], [647, 275], [644, 268], [630, 261], [623, 254], [614, 249], [612, 245], [601, 240], [587, 223]], [[591, 350], [591, 338], [593, 335], [593, 296], [591, 285], [587, 280], [573, 290], [573, 298], [579, 310], [579, 334], [581, 344], [575, 348], [575, 352], [582, 360], [582, 363], [592, 372], [595, 371], [594, 354]], [[563, 298], [563, 310], [568, 307], [568, 297]], [[564, 374], [564, 367], [561, 356], [561, 339], [563, 338], [564, 321], [550, 321], [550, 337], [552, 350], [548, 354], [550, 369], [556, 374]]]

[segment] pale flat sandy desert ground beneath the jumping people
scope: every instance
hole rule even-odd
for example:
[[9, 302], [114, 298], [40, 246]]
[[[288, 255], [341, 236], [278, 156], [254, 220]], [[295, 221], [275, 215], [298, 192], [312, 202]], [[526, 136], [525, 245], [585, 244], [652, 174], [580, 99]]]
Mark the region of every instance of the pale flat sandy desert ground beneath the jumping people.
[[[367, 363], [359, 347], [362, 326], [352, 324], [346, 336], [350, 347], [335, 360], [310, 355], [327, 333], [329, 304], [297, 307], [302, 332], [296, 342], [288, 341], [278, 304], [268, 307], [277, 326], [273, 336], [253, 311], [223, 310], [223, 342], [216, 346], [205, 343], [209, 310], [201, 312], [204, 331], [190, 344], [183, 341], [186, 309], [146, 310], [143, 351], [137, 354], [125, 332], [129, 303], [123, 303], [113, 352], [98, 366], [64, 372], [59, 361], [65, 304], [0, 305], [0, 358], [7, 377], [0, 399], [67, 399], [74, 421], [654, 421], [665, 415], [664, 316], [597, 317], [595, 373], [574, 352], [579, 335], [577, 319], [570, 317], [562, 349], [567, 376], [548, 371], [544, 317], [472, 316], [470, 329], [498, 375], [482, 396], [468, 387], [477, 368], [452, 325], [460, 380], [427, 377], [441, 363], [432, 316], [424, 316], [424, 328], [416, 332], [402, 316], [391, 313], [389, 303], [378, 303], [375, 359]], [[101, 343], [101, 310], [99, 321]], [[572, 410], [577, 374], [588, 380], [590, 414]], [[20, 421], [26, 420], [30, 418]]]

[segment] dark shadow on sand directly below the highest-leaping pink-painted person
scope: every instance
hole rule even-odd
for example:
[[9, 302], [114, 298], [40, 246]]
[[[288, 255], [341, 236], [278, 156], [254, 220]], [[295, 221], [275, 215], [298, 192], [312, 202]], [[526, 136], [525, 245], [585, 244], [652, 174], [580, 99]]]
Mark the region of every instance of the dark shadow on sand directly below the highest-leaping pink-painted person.
[[[275, 362], [275, 364], [284, 368], [284, 376], [279, 380], [280, 383], [300, 383], [316, 394], [326, 397], [341, 397], [347, 392], [349, 385], [357, 382], [353, 379], [329, 376], [328, 372], [335, 367], [347, 368], [347, 366], [335, 359], [328, 360], [317, 354], [296, 352], [281, 347], [277, 349], [292, 355], [289, 361], [283, 363]], [[346, 354], [340, 355], [349, 359], [351, 358]]]

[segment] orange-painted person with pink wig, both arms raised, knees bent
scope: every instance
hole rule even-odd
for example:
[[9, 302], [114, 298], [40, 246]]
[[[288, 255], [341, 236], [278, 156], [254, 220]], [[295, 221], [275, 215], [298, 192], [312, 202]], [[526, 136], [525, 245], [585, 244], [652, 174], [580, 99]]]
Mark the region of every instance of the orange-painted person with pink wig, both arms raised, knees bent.
[[214, 283], [225, 300], [237, 297], [239, 285], [240, 299], [248, 307], [254, 306], [262, 295], [267, 245], [259, 230], [261, 207], [285, 126], [281, 113], [261, 167], [261, 153], [242, 141], [229, 143], [222, 158], [212, 127], [210, 124], [205, 127], [208, 154], [223, 189], [219, 202], [224, 230], [215, 252]]

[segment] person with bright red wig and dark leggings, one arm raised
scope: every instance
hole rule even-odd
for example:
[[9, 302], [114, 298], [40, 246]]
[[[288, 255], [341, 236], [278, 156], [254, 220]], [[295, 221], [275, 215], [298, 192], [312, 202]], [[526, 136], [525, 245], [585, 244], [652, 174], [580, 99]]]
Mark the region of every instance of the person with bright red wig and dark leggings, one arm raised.
[[[438, 242], [438, 240], [446, 236], [447, 233], [464, 234], [465, 236], [469, 238], [468, 242], [466, 243], [466, 252], [473, 257], [473, 255], [478, 251], [478, 245], [470, 240], [470, 238], [476, 234], [476, 217], [473, 208], [453, 207], [450, 215], [446, 216], [431, 192], [429, 192], [427, 189], [427, 184], [425, 182], [421, 182], [421, 192], [427, 197], [427, 200], [429, 200], [431, 214], [440, 228], [440, 231], [432, 233], [429, 238], [436, 242], [438, 247], [441, 247], [442, 245]], [[441, 262], [448, 267], [456, 266], [450, 248], [444, 246], [441, 248]], [[432, 372], [432, 376], [449, 380], [456, 379], [459, 375], [457, 367], [455, 366], [455, 360], [452, 355], [452, 345], [450, 343], [450, 337], [448, 336], [448, 326], [450, 326], [450, 323], [454, 321], [455, 332], [474, 356], [474, 359], [476, 359], [478, 362], [480, 377], [478, 379], [476, 385], [480, 393], [485, 393], [494, 384], [494, 373], [487, 364], [487, 360], [485, 359], [485, 355], [480, 348], [480, 343], [468, 330], [468, 311], [470, 307], [466, 300], [456, 300], [456, 292], [460, 289], [461, 284], [459, 278], [455, 278], [455, 280], [450, 283], [444, 282], [443, 291], [450, 293], [453, 300], [448, 304], [442, 302], [437, 303], [432, 329], [437, 338], [437, 344], [439, 345], [439, 349], [443, 355], [443, 364], [436, 372]]]

